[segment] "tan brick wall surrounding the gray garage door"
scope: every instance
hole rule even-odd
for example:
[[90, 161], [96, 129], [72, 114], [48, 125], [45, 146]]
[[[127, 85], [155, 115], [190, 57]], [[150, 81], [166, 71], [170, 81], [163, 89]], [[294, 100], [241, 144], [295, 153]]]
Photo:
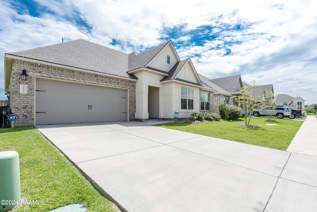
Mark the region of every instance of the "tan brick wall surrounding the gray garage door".
[[[27, 81], [21, 79], [22, 70], [28, 74]], [[37, 63], [13, 60], [11, 78], [9, 83], [10, 107], [12, 113], [17, 116], [14, 126], [34, 126], [35, 119], [35, 78], [45, 77], [48, 79], [69, 80], [72, 82], [89, 83], [92, 85], [106, 85], [117, 88], [129, 89], [129, 119], [134, 120], [135, 115], [135, 86], [136, 81], [105, 76], [98, 73], [89, 73], [64, 69]], [[20, 93], [20, 84], [27, 85], [27, 94]]]

